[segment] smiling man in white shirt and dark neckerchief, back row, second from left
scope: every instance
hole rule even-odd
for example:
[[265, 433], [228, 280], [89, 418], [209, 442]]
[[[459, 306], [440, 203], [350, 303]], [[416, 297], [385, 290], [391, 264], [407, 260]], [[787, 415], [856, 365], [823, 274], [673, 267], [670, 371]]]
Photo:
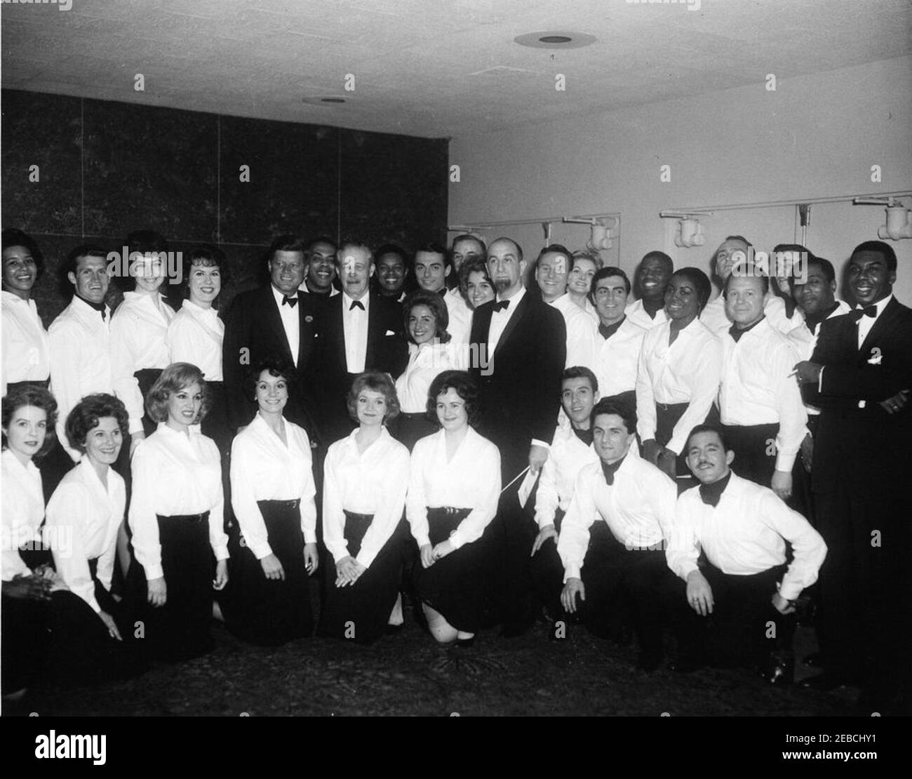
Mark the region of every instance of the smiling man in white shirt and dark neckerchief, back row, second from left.
[[68, 445], [67, 414], [95, 392], [114, 394], [110, 360], [108, 254], [98, 246], [73, 249], [64, 264], [73, 299], [47, 328], [51, 391], [57, 398], [57, 438], [73, 462], [81, 452]]

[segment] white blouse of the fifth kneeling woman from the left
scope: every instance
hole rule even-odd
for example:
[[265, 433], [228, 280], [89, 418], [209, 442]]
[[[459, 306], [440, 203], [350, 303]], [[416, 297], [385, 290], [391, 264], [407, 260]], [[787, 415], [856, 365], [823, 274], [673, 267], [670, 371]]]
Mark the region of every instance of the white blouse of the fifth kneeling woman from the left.
[[402, 519], [409, 484], [409, 450], [386, 428], [364, 452], [358, 452], [360, 428], [333, 443], [323, 466], [323, 542], [338, 562], [349, 556], [344, 512], [373, 514], [355, 560], [366, 568]]

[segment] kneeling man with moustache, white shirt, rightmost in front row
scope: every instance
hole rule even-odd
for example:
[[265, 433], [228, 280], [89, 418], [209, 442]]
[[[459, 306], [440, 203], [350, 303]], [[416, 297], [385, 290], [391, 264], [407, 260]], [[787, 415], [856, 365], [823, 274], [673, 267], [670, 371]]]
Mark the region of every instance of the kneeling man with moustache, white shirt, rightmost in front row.
[[678, 498], [667, 552], [668, 567], [687, 583], [678, 584], [675, 609], [679, 670], [707, 660], [755, 665], [772, 683], [789, 683], [794, 601], [817, 580], [824, 539], [771, 489], [731, 472], [735, 455], [718, 427], [695, 427], [684, 451], [700, 484]]

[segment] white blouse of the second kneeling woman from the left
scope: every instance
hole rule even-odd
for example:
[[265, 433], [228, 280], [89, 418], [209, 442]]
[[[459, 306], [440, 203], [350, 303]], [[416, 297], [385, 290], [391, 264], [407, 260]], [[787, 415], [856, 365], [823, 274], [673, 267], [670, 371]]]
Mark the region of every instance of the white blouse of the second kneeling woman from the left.
[[83, 455], [79, 464], [59, 483], [47, 502], [48, 528], [61, 528], [70, 539], [69, 549], [54, 549], [54, 567], [67, 587], [96, 613], [95, 583], [89, 560], [98, 560], [95, 575], [110, 592], [117, 534], [127, 506], [127, 488], [119, 473], [108, 469], [108, 485], [101, 483], [95, 466]]

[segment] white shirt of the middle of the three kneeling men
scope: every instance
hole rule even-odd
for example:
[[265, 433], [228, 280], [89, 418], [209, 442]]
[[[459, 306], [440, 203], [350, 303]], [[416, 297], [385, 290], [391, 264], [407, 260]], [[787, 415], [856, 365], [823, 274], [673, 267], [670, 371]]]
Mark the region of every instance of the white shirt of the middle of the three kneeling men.
[[677, 496], [675, 483], [633, 452], [627, 452], [612, 484], [606, 482], [601, 462], [585, 465], [576, 477], [573, 499], [557, 539], [564, 581], [580, 577], [589, 528], [598, 519], [627, 549], [661, 548], [671, 532]]

